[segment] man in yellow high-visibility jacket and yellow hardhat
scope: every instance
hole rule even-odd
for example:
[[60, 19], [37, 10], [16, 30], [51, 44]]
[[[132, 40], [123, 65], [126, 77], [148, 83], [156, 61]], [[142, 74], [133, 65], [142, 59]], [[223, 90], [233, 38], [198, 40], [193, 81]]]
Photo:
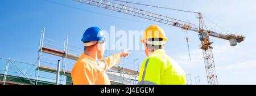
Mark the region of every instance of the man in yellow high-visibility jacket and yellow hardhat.
[[186, 75], [163, 50], [167, 37], [158, 25], [148, 27], [141, 39], [148, 56], [141, 65], [138, 85], [185, 85]]

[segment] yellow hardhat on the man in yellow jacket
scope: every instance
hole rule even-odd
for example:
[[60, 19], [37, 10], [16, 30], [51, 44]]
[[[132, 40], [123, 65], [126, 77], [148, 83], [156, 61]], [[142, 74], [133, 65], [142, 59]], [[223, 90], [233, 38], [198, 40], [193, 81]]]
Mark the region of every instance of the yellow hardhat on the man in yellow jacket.
[[163, 38], [163, 41], [167, 41], [166, 34], [158, 25], [150, 25], [150, 27], [144, 31], [141, 42], [143, 43], [143, 41], [148, 40], [148, 38]]

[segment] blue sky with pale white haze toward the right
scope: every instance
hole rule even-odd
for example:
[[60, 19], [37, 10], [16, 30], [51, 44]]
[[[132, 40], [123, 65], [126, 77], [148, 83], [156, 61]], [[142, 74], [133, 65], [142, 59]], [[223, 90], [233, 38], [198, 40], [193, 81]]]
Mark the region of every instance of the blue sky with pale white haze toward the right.
[[[200, 41], [196, 32], [184, 33], [180, 28], [149, 21], [146, 19], [121, 14], [72, 0], [2, 0], [0, 3], [0, 57], [13, 58], [34, 63], [38, 56], [40, 31], [46, 28], [46, 37], [64, 41], [69, 36], [69, 45], [81, 47], [82, 33], [89, 27], [101, 27], [110, 30], [143, 30], [151, 24], [158, 24], [166, 32], [168, 42], [165, 50], [174, 58], [186, 73], [191, 73], [192, 80], [200, 76], [201, 84], [207, 84], [203, 62], [203, 53], [199, 49]], [[229, 46], [229, 41], [210, 37], [214, 43], [213, 56], [219, 84], [256, 84], [255, 22], [256, 1], [135, 1], [148, 5], [177, 8], [180, 10], [200, 11], [204, 14], [207, 26], [220, 33], [242, 34], [246, 40], [237, 46]], [[66, 5], [66, 6], [64, 6]], [[126, 4], [130, 5], [130, 4]], [[68, 7], [69, 6], [69, 7]], [[130, 5], [184, 21], [198, 24], [195, 14], [177, 12], [159, 8]], [[76, 8], [74, 8], [76, 7]], [[79, 8], [79, 9], [77, 9]], [[82, 10], [81, 10], [82, 9]], [[87, 10], [87, 11], [85, 11]], [[98, 14], [97, 14], [98, 13]], [[206, 19], [207, 18], [207, 19]], [[220, 25], [214, 27], [213, 23]], [[189, 61], [186, 35], [189, 37], [191, 61]], [[116, 38], [118, 39], [118, 38]], [[116, 53], [117, 51], [112, 51]], [[106, 54], [108, 55], [108, 53]], [[125, 59], [133, 61], [139, 57], [143, 62], [143, 51], [132, 51]]]

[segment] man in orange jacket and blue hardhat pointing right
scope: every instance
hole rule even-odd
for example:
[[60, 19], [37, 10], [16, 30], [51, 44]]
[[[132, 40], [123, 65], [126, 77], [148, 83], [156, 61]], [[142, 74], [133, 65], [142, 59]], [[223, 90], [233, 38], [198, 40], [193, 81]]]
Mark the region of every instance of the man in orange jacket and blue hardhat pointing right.
[[119, 63], [122, 56], [125, 57], [130, 53], [122, 51], [102, 59], [105, 51], [105, 38], [104, 33], [98, 27], [86, 29], [81, 41], [84, 42], [84, 54], [80, 56], [72, 68], [73, 84], [110, 85], [106, 71]]

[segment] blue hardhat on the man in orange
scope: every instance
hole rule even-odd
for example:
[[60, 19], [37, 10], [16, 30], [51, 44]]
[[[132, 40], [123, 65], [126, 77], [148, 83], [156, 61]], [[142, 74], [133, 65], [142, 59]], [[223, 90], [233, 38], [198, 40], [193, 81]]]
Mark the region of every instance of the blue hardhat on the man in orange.
[[102, 32], [101, 28], [90, 27], [85, 30], [81, 41], [82, 42], [105, 41], [104, 32]]

